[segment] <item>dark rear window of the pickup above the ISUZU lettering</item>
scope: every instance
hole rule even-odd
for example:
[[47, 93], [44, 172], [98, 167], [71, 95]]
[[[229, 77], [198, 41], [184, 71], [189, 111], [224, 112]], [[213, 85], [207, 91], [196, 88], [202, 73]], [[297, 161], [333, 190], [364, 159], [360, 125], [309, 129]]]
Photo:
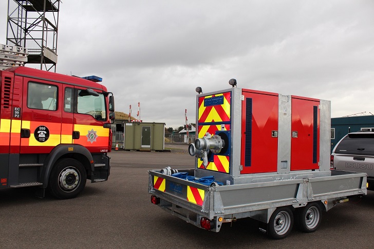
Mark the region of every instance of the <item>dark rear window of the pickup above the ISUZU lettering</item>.
[[349, 134], [338, 144], [335, 153], [374, 156], [374, 133]]

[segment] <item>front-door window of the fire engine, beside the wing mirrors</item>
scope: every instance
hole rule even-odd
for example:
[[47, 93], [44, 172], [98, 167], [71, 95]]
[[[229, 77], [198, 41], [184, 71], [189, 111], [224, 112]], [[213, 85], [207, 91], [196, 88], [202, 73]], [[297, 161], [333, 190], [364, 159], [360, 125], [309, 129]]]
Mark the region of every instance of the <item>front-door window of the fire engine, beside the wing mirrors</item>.
[[86, 90], [78, 90], [77, 112], [89, 114], [99, 121], [105, 121], [104, 95], [99, 93], [99, 96], [92, 96]]

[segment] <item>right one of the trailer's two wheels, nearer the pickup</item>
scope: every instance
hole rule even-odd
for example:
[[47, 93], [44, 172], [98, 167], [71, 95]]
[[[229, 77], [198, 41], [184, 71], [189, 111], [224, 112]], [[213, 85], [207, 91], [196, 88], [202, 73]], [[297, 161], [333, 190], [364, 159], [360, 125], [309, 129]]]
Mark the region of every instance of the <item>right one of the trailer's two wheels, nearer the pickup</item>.
[[312, 233], [320, 226], [322, 210], [317, 203], [308, 203], [305, 207], [298, 208], [296, 220], [298, 228], [306, 233]]

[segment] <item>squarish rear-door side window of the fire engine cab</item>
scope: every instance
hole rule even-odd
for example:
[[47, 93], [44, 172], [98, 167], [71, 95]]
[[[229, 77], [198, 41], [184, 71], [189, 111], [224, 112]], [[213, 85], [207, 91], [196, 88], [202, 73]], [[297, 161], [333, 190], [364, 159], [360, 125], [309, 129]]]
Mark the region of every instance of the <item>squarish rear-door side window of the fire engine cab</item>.
[[57, 110], [57, 86], [29, 82], [27, 107], [41, 110]]

